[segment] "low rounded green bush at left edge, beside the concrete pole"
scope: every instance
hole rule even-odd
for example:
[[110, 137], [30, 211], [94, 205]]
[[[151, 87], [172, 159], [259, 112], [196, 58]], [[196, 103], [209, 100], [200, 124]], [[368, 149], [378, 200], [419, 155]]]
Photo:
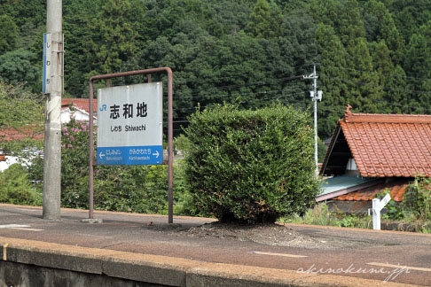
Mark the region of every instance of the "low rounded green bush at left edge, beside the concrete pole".
[[42, 193], [32, 189], [26, 167], [13, 164], [4, 172], [0, 172], [0, 202], [14, 205], [40, 205], [42, 203]]

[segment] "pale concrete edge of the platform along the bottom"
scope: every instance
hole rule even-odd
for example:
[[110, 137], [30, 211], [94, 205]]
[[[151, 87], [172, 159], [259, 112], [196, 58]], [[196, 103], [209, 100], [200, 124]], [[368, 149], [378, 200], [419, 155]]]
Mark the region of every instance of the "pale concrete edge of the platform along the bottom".
[[[182, 287], [367, 287], [382, 283], [340, 275], [302, 274], [294, 270], [203, 262], [8, 237], [0, 237], [0, 261]], [[392, 282], [385, 283], [385, 286], [418, 287]]]

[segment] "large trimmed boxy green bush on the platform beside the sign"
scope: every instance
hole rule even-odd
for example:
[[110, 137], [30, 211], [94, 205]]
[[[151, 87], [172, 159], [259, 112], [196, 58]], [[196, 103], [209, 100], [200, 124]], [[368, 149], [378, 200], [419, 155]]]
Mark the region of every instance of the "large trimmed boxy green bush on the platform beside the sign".
[[203, 213], [220, 221], [273, 222], [303, 213], [318, 191], [313, 131], [304, 112], [215, 105], [190, 117], [185, 173]]

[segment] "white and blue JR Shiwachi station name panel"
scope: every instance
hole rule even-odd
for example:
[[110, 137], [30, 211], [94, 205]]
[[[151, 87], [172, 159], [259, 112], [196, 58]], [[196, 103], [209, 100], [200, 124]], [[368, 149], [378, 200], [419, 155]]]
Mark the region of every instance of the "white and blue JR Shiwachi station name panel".
[[98, 165], [163, 163], [161, 82], [98, 89]]

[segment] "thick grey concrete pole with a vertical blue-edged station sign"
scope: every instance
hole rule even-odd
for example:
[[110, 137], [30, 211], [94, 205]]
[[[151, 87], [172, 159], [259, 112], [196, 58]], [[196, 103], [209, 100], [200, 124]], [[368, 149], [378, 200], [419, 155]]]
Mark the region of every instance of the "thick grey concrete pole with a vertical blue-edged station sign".
[[[61, 196], [61, 96], [63, 94], [63, 32], [62, 0], [47, 0], [46, 37], [51, 43], [50, 55], [45, 55], [44, 66], [49, 66], [43, 82], [46, 96], [45, 132], [43, 148], [43, 219], [60, 219]], [[45, 68], [45, 67], [44, 67]], [[46, 87], [46, 89], [45, 89]]]

